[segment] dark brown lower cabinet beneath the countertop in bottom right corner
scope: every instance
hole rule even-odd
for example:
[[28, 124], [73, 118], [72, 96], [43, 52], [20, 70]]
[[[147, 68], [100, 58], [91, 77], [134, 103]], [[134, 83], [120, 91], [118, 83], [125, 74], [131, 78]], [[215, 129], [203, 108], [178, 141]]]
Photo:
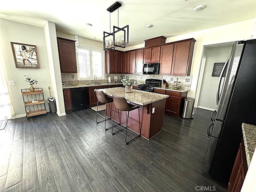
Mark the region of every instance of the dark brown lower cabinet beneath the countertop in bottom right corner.
[[228, 192], [240, 192], [247, 170], [248, 166], [246, 161], [244, 140], [242, 139], [238, 148], [230, 180], [228, 182]]

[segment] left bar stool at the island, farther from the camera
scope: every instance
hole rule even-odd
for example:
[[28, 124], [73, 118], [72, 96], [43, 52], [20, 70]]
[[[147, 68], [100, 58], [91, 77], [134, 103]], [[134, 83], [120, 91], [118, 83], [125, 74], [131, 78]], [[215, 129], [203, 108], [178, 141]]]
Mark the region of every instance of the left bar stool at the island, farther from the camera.
[[[94, 90], [96, 93], [96, 97], [98, 99], [97, 101], [97, 112], [96, 112], [96, 123], [101, 123], [101, 122], [105, 122], [105, 131], [111, 129], [112, 127], [106, 128], [106, 121], [111, 119], [111, 109], [110, 109], [110, 103], [113, 102], [112, 98], [106, 97], [103, 93], [103, 91], [100, 90]], [[102, 114], [100, 114], [98, 112], [98, 107], [99, 107], [99, 102], [101, 102], [102, 104], [105, 104], [105, 116], [103, 116]], [[107, 104], [109, 105], [109, 112], [110, 112], [110, 118], [106, 118], [106, 114], [107, 114]], [[98, 115], [103, 117], [104, 120], [99, 121], [98, 122]]]

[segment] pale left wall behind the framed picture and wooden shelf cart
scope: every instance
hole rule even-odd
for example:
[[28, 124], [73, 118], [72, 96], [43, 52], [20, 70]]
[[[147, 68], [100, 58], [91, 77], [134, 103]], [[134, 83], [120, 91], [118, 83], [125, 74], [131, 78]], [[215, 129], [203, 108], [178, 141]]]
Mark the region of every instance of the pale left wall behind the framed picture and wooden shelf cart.
[[[25, 116], [25, 108], [21, 95], [22, 88], [29, 88], [28, 82], [25, 82], [24, 75], [30, 75], [38, 80], [35, 87], [42, 87], [44, 90], [44, 99], [50, 96], [48, 86], [52, 86], [48, 56], [46, 52], [46, 42], [44, 29], [20, 22], [0, 18], [0, 46], [2, 50], [3, 66], [6, 72], [6, 80], [14, 80], [15, 85], [9, 85], [10, 96], [13, 102], [15, 114], [17, 117]], [[36, 45], [38, 51], [39, 69], [15, 68], [14, 58], [10, 42]], [[48, 111], [48, 104], [46, 103]]]

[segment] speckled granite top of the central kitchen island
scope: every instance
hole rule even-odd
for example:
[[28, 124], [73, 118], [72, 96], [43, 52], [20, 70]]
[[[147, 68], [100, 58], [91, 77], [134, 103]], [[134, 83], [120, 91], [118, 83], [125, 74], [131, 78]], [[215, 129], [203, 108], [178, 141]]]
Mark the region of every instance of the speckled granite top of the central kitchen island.
[[125, 88], [122, 88], [122, 87], [106, 88], [101, 90], [108, 96], [112, 96], [112, 94], [114, 94], [115, 96], [124, 97], [126, 98], [127, 101], [134, 104], [141, 105], [141, 106], [154, 103], [169, 97], [168, 95], [164, 95], [164, 94], [158, 94], [158, 93], [152, 93], [152, 92], [146, 92], [146, 91], [140, 91], [140, 90], [132, 90], [131, 93], [126, 93]]

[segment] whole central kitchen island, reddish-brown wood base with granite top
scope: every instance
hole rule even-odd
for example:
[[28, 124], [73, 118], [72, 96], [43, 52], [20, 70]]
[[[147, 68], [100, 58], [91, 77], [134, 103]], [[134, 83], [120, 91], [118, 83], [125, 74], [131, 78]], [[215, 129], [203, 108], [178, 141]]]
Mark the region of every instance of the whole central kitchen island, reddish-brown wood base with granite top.
[[[112, 97], [112, 94], [119, 97], [126, 98], [127, 102], [140, 106], [140, 124], [141, 124], [141, 135], [142, 137], [150, 140], [156, 134], [161, 131], [164, 120], [164, 108], [165, 101], [168, 95], [145, 92], [140, 90], [132, 90], [131, 93], [126, 93], [125, 88], [107, 88], [100, 89], [108, 97]], [[114, 111], [114, 102], [110, 103], [110, 109], [112, 110], [112, 116]], [[107, 116], [110, 117], [110, 110], [107, 105]], [[119, 111], [120, 112], [120, 111]], [[125, 125], [125, 112], [120, 112], [121, 124]], [[139, 133], [138, 123], [138, 110], [131, 111], [129, 113], [128, 128], [136, 133]], [[118, 120], [118, 114], [116, 109], [115, 119]]]

